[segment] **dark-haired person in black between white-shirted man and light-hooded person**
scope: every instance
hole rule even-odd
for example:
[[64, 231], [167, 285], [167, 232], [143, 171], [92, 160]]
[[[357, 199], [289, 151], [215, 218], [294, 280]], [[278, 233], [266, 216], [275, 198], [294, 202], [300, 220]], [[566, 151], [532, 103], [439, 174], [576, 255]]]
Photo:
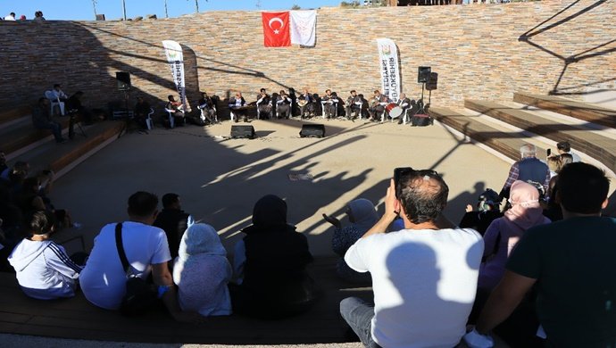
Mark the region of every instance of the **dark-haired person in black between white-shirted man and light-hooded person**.
[[179, 195], [165, 194], [162, 196], [162, 211], [156, 216], [154, 226], [162, 228], [167, 235], [171, 258], [178, 256], [179, 240], [184, 231], [194, 223], [193, 217], [182, 211]]

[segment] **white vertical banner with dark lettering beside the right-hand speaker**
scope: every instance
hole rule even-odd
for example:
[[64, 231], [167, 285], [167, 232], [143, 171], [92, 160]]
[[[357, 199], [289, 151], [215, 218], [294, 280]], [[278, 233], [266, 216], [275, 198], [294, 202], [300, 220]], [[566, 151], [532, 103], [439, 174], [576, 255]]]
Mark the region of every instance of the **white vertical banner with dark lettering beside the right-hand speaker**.
[[377, 38], [377, 46], [379, 46], [381, 93], [397, 102], [400, 97], [398, 49], [394, 41], [389, 38]]

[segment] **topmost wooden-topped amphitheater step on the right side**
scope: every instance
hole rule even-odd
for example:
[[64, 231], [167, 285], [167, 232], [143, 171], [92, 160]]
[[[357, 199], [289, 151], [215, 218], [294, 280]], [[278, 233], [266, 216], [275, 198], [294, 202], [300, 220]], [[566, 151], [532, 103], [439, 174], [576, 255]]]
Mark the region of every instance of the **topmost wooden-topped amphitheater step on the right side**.
[[594, 104], [577, 102], [554, 95], [534, 95], [528, 92], [514, 93], [513, 101], [562, 113], [563, 115], [586, 120], [605, 127], [616, 128], [616, 110]]

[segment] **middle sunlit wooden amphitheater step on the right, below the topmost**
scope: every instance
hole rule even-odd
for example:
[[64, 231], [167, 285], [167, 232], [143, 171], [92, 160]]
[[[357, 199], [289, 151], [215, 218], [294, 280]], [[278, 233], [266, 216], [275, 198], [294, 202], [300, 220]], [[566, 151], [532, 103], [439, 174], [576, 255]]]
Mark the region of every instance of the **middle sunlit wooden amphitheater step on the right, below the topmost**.
[[562, 124], [541, 117], [536, 112], [495, 102], [465, 100], [464, 106], [555, 142], [569, 141], [571, 147], [580, 153], [586, 153], [602, 162], [609, 170], [616, 171], [616, 142], [611, 137], [590, 132], [579, 125]]

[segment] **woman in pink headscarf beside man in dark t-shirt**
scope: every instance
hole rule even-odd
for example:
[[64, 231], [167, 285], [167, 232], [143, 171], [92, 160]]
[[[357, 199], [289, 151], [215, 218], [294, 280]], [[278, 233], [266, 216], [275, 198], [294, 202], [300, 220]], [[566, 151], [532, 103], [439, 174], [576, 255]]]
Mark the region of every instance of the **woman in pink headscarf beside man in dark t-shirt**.
[[539, 205], [535, 186], [521, 180], [513, 183], [509, 203], [502, 218], [492, 221], [484, 235], [484, 260], [479, 268], [479, 289], [491, 291], [503, 278], [504, 266], [515, 244], [529, 228], [550, 223]]

